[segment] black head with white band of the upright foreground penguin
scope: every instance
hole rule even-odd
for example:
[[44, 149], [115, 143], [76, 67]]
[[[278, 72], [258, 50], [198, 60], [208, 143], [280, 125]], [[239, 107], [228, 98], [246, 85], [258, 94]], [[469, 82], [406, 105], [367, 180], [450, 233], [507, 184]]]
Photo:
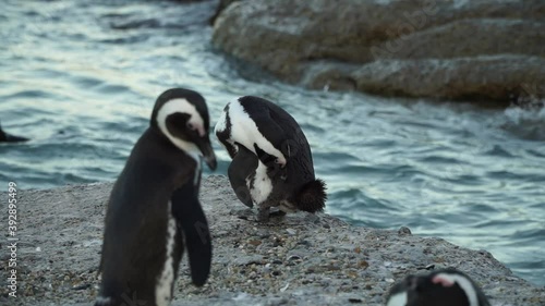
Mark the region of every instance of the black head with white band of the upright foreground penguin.
[[211, 170], [217, 161], [210, 145], [209, 115], [198, 93], [171, 88], [156, 100], [150, 125], [172, 145], [192, 156], [203, 156]]

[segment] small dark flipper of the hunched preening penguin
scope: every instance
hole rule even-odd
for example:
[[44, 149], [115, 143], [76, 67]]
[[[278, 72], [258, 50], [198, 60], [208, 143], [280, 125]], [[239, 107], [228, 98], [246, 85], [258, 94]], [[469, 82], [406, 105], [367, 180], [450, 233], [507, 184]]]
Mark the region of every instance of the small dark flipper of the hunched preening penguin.
[[253, 208], [254, 201], [246, 185], [246, 179], [255, 172], [258, 163], [257, 157], [244, 146], [239, 146], [227, 174], [234, 194], [245, 206]]

